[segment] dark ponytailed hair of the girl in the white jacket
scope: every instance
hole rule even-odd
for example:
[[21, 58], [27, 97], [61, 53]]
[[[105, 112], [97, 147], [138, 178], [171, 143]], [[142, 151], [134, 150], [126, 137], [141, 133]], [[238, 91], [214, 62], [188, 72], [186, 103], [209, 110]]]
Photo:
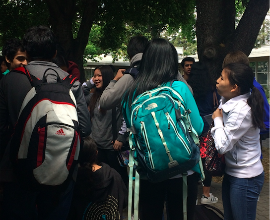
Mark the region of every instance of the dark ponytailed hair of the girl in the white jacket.
[[254, 127], [265, 128], [264, 98], [253, 85], [253, 70], [242, 63], [230, 63], [225, 66], [224, 71], [229, 82], [239, 87], [241, 95], [250, 92], [250, 89], [252, 89], [251, 96], [248, 98], [248, 105], [251, 107], [252, 124]]

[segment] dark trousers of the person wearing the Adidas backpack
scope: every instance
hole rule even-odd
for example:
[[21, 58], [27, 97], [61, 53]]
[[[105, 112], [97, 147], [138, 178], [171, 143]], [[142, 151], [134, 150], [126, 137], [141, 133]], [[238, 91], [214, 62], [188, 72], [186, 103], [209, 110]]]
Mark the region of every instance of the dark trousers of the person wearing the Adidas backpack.
[[66, 220], [75, 182], [65, 192], [31, 192], [18, 183], [3, 183], [3, 220]]

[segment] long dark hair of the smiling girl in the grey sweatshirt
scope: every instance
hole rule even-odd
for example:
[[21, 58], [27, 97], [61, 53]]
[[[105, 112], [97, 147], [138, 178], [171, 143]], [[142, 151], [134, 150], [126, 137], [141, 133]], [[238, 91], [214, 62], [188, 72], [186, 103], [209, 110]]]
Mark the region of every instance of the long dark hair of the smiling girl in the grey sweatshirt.
[[[103, 80], [103, 85], [101, 89], [96, 89], [95, 92], [93, 93], [90, 102], [89, 102], [89, 107], [90, 107], [90, 115], [93, 115], [94, 108], [96, 106], [97, 100], [101, 97], [104, 89], [109, 85], [110, 81], [114, 78], [114, 72], [113, 69], [110, 65], [99, 65], [95, 68], [99, 69], [102, 75], [102, 80]], [[94, 70], [94, 72], [95, 72]], [[100, 112], [105, 113], [105, 110], [102, 110], [100, 108]]]

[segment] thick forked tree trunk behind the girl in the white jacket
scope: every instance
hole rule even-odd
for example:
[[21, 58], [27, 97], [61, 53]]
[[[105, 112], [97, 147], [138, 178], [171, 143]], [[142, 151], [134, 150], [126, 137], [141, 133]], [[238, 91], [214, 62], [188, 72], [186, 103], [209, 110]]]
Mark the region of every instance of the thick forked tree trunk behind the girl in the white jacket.
[[240, 50], [249, 55], [269, 10], [269, 0], [250, 0], [235, 29], [235, 0], [197, 0], [198, 57], [219, 77], [224, 57]]

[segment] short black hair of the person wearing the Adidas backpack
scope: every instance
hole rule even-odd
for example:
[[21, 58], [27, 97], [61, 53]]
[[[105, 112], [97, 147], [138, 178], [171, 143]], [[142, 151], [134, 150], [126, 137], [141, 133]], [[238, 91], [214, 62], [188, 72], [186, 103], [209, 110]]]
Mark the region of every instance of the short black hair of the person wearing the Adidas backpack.
[[30, 60], [52, 60], [57, 50], [53, 31], [44, 25], [29, 28], [24, 35], [23, 45]]

